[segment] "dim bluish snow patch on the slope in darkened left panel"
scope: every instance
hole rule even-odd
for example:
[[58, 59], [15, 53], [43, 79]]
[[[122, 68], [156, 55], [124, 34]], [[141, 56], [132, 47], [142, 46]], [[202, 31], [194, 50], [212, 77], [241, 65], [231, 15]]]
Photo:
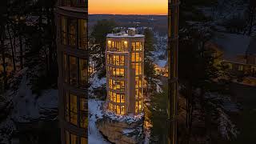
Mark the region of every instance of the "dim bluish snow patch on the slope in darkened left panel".
[[11, 118], [15, 122], [30, 122], [33, 119], [44, 118], [46, 115], [41, 112], [58, 108], [58, 90], [46, 90], [37, 98], [36, 94], [32, 94], [28, 83], [29, 79], [24, 74], [18, 92], [12, 99], [14, 109]]

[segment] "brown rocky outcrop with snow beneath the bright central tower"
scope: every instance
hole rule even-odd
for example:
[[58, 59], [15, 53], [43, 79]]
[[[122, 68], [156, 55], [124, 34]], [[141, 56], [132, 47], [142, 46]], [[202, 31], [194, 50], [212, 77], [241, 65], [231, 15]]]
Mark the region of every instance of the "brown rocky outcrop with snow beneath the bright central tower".
[[144, 142], [143, 118], [135, 122], [128, 122], [104, 116], [98, 120], [96, 125], [110, 142], [117, 144], [142, 144]]

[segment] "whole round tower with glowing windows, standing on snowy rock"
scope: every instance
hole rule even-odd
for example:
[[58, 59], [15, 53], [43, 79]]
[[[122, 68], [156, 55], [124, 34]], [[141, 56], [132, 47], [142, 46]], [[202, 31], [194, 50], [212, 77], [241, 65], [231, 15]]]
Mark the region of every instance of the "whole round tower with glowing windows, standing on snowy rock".
[[144, 35], [107, 34], [106, 90], [108, 110], [115, 114], [139, 114], [143, 110]]

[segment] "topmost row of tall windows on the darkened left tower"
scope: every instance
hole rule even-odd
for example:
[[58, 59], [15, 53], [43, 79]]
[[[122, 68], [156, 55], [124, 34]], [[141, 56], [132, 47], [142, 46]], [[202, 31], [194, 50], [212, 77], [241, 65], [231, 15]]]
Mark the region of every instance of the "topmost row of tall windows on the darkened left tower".
[[85, 19], [62, 16], [62, 45], [74, 49], [87, 49], [87, 24]]

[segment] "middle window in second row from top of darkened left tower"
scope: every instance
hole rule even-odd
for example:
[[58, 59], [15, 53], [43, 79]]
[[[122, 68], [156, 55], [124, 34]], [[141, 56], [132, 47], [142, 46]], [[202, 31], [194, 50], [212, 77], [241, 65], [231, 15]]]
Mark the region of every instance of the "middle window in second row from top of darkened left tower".
[[70, 56], [70, 84], [78, 85], [78, 62], [73, 56]]

